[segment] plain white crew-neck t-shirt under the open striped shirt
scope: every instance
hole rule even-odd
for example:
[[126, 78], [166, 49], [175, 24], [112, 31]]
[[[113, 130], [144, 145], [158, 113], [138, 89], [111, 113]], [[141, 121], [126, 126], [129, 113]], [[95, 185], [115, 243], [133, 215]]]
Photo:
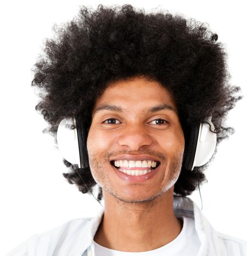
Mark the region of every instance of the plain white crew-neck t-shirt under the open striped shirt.
[[184, 216], [181, 219], [181, 232], [165, 246], [146, 252], [121, 252], [100, 246], [94, 241], [95, 256], [196, 256], [201, 243], [195, 231], [194, 220]]

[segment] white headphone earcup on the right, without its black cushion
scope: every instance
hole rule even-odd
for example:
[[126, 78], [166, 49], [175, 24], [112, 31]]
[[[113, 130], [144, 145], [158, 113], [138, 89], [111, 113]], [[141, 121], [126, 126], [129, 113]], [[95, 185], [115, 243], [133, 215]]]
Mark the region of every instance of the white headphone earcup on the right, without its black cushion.
[[[214, 130], [214, 124], [212, 124], [210, 120], [207, 121], [211, 124], [211, 130]], [[194, 169], [194, 166], [202, 166], [210, 160], [215, 152], [216, 142], [217, 135], [210, 131], [209, 124], [201, 123], [192, 170]]]

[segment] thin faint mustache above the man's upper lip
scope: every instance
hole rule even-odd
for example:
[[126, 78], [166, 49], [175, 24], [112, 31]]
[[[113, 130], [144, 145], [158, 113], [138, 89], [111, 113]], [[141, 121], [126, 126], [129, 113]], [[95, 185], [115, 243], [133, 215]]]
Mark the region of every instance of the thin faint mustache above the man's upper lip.
[[148, 154], [151, 155], [153, 157], [162, 159], [166, 162], [166, 155], [160, 152], [155, 152], [155, 151], [151, 151], [151, 150], [145, 150], [145, 151], [128, 151], [128, 150], [123, 150], [123, 151], [111, 151], [111, 152], [107, 152], [103, 159], [104, 162], [109, 162], [109, 158], [114, 158], [117, 155], [121, 155], [121, 154]]

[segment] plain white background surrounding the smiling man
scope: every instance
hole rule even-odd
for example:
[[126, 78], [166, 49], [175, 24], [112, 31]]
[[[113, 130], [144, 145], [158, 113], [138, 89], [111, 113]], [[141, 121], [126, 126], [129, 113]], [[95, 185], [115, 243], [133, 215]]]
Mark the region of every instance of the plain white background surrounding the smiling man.
[[[216, 230], [247, 240], [246, 208], [246, 9], [244, 1], [131, 1], [147, 12], [158, 7], [208, 23], [226, 44], [231, 84], [245, 97], [227, 119], [235, 128], [218, 147], [201, 187], [203, 213]], [[52, 25], [72, 19], [89, 1], [2, 1], [1, 19], [1, 218], [0, 255], [26, 240], [74, 218], [93, 216], [100, 205], [62, 176], [67, 169], [41, 115], [31, 88], [31, 68], [41, 53]], [[198, 190], [191, 198], [201, 208]]]

